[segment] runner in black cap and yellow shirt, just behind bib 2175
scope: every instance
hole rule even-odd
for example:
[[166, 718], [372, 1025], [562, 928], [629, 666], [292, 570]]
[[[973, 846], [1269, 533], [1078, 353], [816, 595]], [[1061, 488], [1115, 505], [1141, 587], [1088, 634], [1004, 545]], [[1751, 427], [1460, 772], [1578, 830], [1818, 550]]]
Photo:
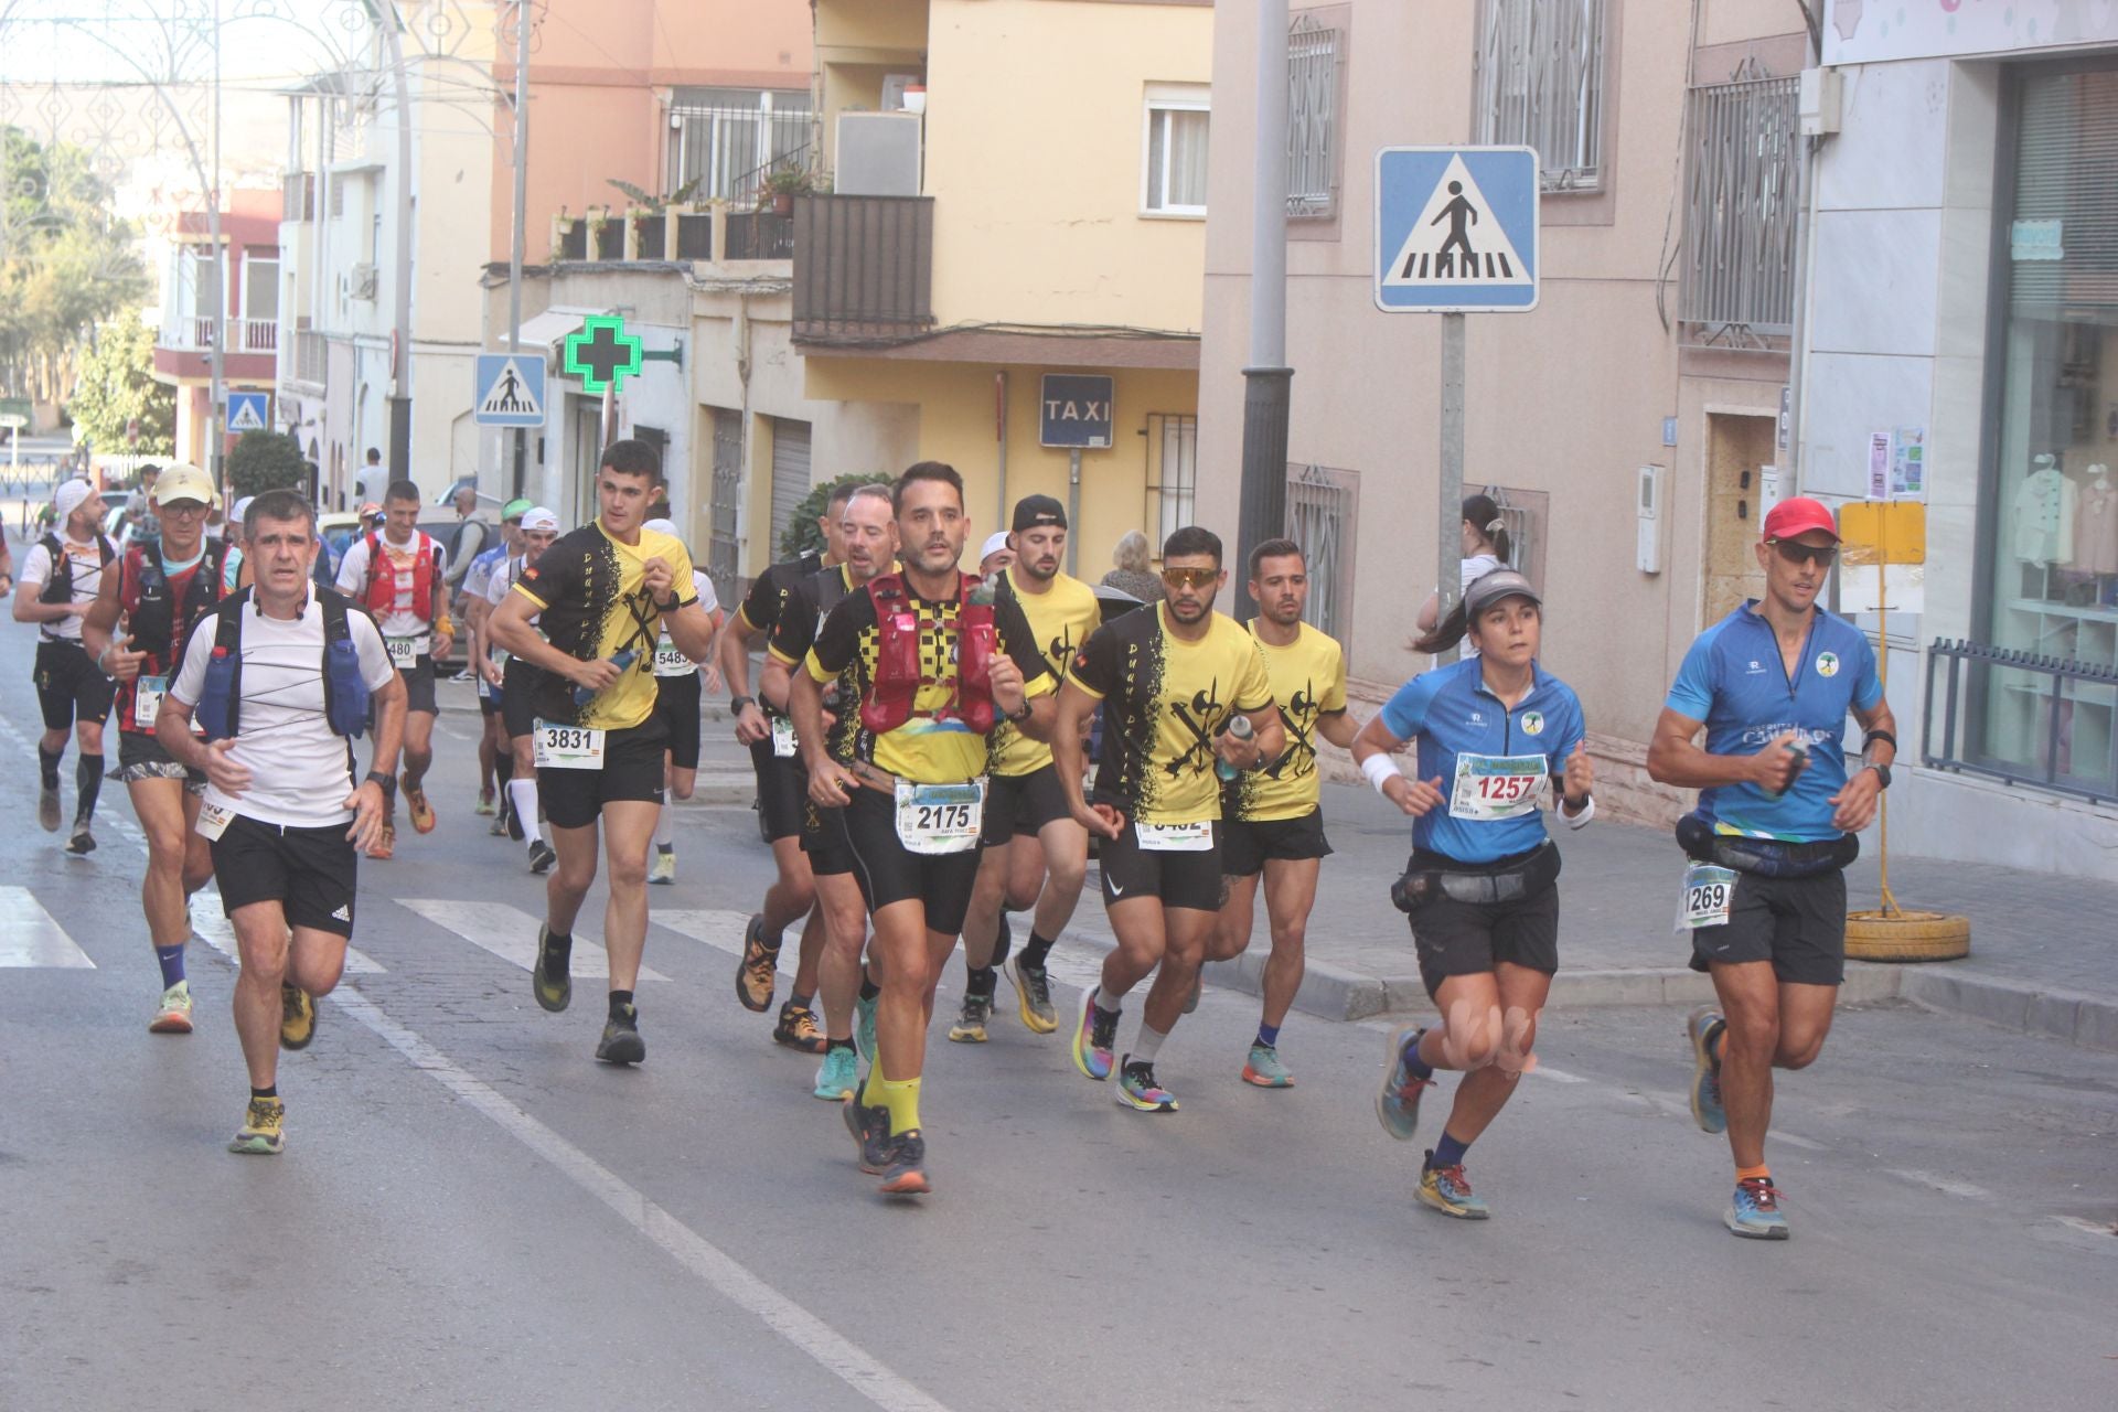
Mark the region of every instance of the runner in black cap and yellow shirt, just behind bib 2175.
[[[1015, 504], [1004, 546], [1015, 559], [1004, 569], [1008, 593], [1021, 603], [1031, 641], [1055, 682], [1065, 682], [1074, 652], [1101, 620], [1095, 589], [1059, 572], [1065, 563], [1065, 506], [1051, 495], [1027, 495]], [[1023, 1027], [1036, 1035], [1059, 1029], [1044, 959], [1074, 919], [1074, 904], [1089, 876], [1089, 830], [1067, 811], [1053, 747], [1015, 726], [1002, 726], [993, 732], [991, 771], [979, 881], [970, 889], [970, 910], [964, 912], [964, 1006], [949, 1027], [949, 1037], [957, 1044], [985, 1044], [1002, 963], [1008, 963]], [[1008, 908], [1031, 906], [1036, 917], [1029, 944], [1010, 963], [1015, 938]]]

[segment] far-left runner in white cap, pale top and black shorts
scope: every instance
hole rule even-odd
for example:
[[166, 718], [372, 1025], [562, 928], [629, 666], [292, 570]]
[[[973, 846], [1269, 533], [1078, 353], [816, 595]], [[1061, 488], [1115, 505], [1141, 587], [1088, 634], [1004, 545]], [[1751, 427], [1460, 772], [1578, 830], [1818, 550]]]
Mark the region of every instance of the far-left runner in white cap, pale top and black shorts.
[[[36, 622], [36, 701], [44, 711], [44, 737], [36, 743], [36, 821], [47, 834], [59, 830], [59, 760], [66, 737], [80, 741], [74, 764], [74, 832], [68, 857], [95, 851], [95, 796], [104, 788], [104, 720], [116, 686], [80, 646], [80, 616], [102, 593], [104, 565], [116, 546], [97, 529], [104, 497], [87, 481], [68, 481], [51, 497], [53, 519], [30, 553], [21, 557], [21, 586], [15, 622]], [[61, 538], [64, 536], [64, 538]]]

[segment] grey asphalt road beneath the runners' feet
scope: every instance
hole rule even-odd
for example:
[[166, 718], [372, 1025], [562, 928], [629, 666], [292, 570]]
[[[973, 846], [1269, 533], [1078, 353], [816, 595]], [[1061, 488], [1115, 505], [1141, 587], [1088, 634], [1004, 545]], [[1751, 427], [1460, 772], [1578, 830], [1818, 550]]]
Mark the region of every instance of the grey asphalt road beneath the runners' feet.
[[[506, 955], [542, 889], [470, 815], [466, 716], [441, 830], [362, 866], [366, 967], [282, 1063], [286, 1154], [229, 1156], [233, 965], [195, 944], [199, 1031], [146, 1033], [129, 811], [108, 788], [87, 862], [30, 823], [28, 673], [0, 624], [0, 1408], [2118, 1406], [2107, 1054], [1845, 1012], [1781, 1084], [1794, 1238], [1758, 1245], [1720, 1226], [1682, 1016], [1548, 1014], [1472, 1149], [1495, 1217], [1457, 1224], [1372, 1118], [1381, 1025], [1296, 1014], [1298, 1086], [1264, 1092], [1237, 1080], [1256, 1001], [1209, 991], [1163, 1050], [1173, 1116], [1116, 1107], [1063, 1035], [936, 1027], [936, 1192], [887, 1202], [815, 1061], [731, 995], [752, 815], [682, 813], [648, 1063], [604, 1069], [602, 986], [549, 1016]], [[212, 893], [195, 919], [225, 938]], [[93, 967], [23, 965], [38, 936]]]

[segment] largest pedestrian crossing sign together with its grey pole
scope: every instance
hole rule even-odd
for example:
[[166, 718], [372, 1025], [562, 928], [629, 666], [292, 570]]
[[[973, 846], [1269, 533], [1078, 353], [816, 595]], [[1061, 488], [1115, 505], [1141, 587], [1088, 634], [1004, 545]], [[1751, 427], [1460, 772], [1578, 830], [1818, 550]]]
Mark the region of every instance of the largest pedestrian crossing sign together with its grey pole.
[[1464, 593], [1464, 315], [1538, 307], [1538, 174], [1521, 146], [1375, 155], [1375, 307], [1442, 315], [1436, 620]]

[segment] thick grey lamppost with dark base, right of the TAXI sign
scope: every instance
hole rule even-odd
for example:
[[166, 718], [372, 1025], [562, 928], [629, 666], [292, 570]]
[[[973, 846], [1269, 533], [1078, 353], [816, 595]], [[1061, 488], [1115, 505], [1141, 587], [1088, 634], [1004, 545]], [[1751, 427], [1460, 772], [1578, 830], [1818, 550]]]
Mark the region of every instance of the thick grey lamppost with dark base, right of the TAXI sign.
[[[1258, 135], [1250, 193], [1250, 366], [1243, 368], [1243, 487], [1237, 565], [1288, 527], [1288, 0], [1258, 2]], [[1072, 540], [1070, 540], [1072, 544]], [[1237, 569], [1237, 616], [1256, 616]]]

